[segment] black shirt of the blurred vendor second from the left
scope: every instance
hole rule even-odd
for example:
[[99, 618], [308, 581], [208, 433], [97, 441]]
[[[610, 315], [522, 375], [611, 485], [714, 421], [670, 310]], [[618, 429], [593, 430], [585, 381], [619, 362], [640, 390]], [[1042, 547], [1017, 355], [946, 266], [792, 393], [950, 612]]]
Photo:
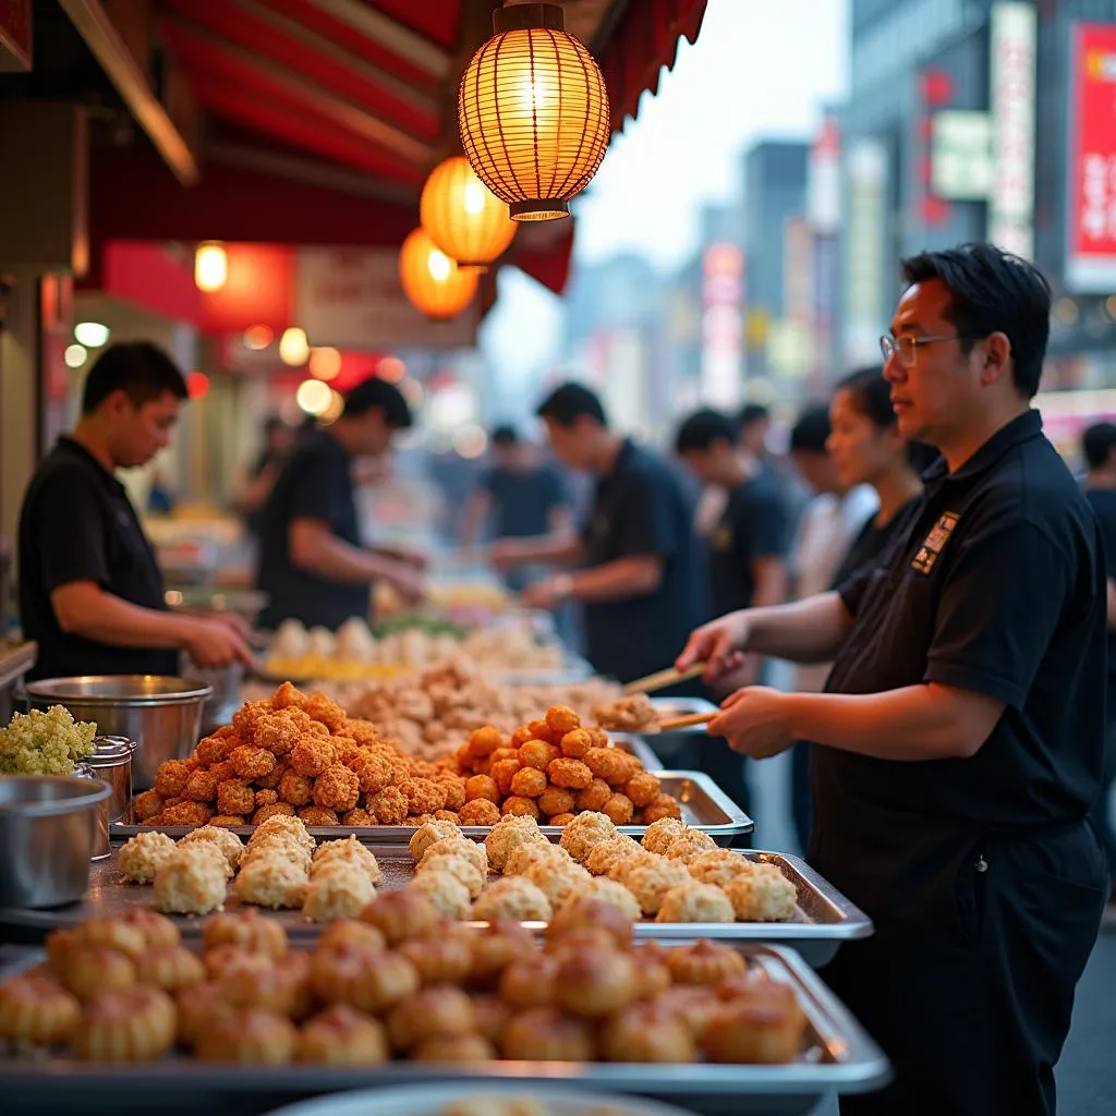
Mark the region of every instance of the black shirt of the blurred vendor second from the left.
[[290, 560], [290, 525], [318, 519], [345, 542], [360, 546], [352, 461], [328, 431], [314, 431], [283, 465], [260, 519], [257, 584], [268, 596], [260, 626], [286, 619], [307, 627], [340, 627], [354, 616], [367, 618], [371, 583], [327, 581], [297, 569]]

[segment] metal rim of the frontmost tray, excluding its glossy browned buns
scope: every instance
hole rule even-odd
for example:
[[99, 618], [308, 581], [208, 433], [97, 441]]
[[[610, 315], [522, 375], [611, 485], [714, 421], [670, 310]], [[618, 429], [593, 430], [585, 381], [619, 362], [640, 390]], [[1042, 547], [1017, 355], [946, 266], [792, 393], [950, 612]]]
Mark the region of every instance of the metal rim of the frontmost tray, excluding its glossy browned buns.
[[[692, 937], [690, 939], [692, 940]], [[160, 1113], [260, 1116], [277, 1105], [339, 1089], [411, 1086], [434, 1081], [478, 1087], [516, 1081], [535, 1085], [576, 1081], [607, 1093], [634, 1093], [675, 1101], [709, 1116], [763, 1114], [806, 1116], [834, 1093], [869, 1093], [882, 1087], [891, 1067], [849, 1011], [791, 950], [741, 944], [741, 952], [770, 980], [791, 984], [808, 1019], [807, 1048], [783, 1066], [608, 1065], [600, 1062], [512, 1062], [461, 1067], [391, 1062], [373, 1070], [309, 1066], [211, 1066], [172, 1056], [153, 1065], [112, 1066], [52, 1058], [0, 1059], [4, 1112], [71, 1108], [83, 1116], [150, 1107]]]

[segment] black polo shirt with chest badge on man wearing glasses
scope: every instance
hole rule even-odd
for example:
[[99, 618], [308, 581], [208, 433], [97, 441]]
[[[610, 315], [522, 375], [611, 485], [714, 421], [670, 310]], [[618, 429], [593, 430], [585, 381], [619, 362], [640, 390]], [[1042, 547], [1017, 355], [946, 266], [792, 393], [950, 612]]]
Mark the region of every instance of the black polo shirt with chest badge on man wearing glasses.
[[1029, 411], [925, 501], [883, 566], [840, 588], [855, 619], [826, 689], [936, 682], [1004, 703], [971, 759], [814, 750], [812, 863], [876, 916], [953, 904], [950, 868], [984, 835], [1083, 818], [1099, 787], [1105, 569], [1085, 497]]

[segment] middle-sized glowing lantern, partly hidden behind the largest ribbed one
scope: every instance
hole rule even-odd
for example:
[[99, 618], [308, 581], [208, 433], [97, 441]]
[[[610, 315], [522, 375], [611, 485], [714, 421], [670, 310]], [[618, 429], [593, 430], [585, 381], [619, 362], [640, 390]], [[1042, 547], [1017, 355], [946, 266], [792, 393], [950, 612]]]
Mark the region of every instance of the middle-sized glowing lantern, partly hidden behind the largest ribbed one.
[[439, 163], [419, 199], [422, 227], [459, 268], [487, 268], [516, 235], [516, 222], [464, 155]]

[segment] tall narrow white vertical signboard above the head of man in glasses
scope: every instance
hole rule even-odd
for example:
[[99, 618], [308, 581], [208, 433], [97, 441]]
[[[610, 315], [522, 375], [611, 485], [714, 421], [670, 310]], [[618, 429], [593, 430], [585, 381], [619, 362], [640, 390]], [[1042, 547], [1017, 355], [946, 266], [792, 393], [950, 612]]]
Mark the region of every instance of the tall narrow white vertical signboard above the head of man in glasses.
[[1035, 84], [1038, 11], [992, 6], [992, 194], [988, 239], [1024, 259], [1035, 254]]

